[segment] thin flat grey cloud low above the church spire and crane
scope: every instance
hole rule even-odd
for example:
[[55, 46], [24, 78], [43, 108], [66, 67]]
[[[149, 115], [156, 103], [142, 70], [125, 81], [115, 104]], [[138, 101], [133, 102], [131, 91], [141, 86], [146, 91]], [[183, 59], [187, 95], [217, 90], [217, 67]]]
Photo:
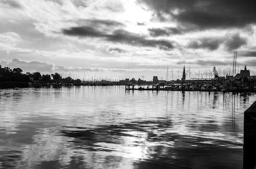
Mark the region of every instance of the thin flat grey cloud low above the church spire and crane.
[[219, 60], [193, 60], [193, 61], [178, 61], [177, 64], [191, 64], [191, 65], [216, 65], [216, 66], [222, 66], [222, 65], [227, 65], [226, 61], [219, 61]]

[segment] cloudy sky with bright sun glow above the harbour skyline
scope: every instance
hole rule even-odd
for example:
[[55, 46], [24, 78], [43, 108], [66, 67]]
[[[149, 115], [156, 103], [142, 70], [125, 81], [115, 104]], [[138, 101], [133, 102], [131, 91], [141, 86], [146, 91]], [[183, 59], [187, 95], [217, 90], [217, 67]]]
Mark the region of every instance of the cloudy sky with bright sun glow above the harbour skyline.
[[[256, 10], [245, 0], [0, 0], [0, 65], [63, 77], [165, 80], [256, 75]], [[187, 75], [187, 78], [189, 75]]]

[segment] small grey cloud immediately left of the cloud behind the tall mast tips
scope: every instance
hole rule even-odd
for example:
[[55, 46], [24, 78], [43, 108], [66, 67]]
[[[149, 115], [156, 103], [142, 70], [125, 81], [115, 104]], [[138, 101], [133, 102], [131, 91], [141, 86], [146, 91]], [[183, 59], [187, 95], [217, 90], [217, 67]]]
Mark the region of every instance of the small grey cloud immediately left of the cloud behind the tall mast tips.
[[219, 48], [221, 43], [222, 43], [222, 40], [220, 39], [203, 38], [203, 39], [189, 42], [187, 47], [193, 48], [193, 49], [204, 48], [209, 50], [216, 50]]

